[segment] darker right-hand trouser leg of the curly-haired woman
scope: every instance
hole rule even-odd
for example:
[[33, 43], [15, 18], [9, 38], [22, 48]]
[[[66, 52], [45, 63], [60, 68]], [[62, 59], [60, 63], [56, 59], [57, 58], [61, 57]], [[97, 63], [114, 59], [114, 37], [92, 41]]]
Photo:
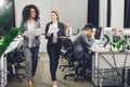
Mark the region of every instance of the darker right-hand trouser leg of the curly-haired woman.
[[31, 76], [36, 75], [36, 70], [38, 65], [38, 54], [39, 54], [39, 46], [31, 47]]

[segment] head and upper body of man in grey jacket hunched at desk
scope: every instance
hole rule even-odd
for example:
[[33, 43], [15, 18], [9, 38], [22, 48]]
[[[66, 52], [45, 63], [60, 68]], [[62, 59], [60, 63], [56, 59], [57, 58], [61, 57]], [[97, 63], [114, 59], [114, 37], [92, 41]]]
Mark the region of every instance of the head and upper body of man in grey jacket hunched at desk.
[[86, 25], [83, 30], [77, 35], [74, 41], [76, 57], [80, 59], [93, 42], [94, 39], [92, 38], [92, 26]]

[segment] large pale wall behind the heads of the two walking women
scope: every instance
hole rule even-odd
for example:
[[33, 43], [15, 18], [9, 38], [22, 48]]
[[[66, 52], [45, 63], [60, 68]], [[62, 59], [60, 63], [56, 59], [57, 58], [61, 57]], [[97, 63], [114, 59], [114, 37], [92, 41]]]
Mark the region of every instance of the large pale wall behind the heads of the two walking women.
[[14, 0], [16, 26], [20, 26], [22, 10], [27, 4], [36, 4], [40, 10], [41, 28], [44, 33], [46, 24], [50, 21], [50, 12], [56, 10], [61, 22], [69, 21], [75, 28], [82, 28], [87, 23], [88, 0]]

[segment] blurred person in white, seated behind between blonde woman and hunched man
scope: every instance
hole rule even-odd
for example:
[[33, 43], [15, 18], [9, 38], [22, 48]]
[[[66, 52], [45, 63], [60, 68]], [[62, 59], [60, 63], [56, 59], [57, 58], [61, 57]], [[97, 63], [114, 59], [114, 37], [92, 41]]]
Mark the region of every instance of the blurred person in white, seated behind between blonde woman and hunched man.
[[65, 35], [68, 36], [70, 39], [73, 37], [73, 27], [70, 26], [69, 22], [65, 23]]

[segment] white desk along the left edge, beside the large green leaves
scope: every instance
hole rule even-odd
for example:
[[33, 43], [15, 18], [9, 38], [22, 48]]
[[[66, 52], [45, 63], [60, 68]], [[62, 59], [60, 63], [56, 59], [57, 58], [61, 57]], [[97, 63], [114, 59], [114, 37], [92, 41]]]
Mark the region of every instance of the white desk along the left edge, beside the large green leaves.
[[15, 38], [14, 41], [12, 41], [10, 44], [10, 46], [8, 47], [5, 52], [0, 58], [0, 87], [4, 87], [8, 84], [8, 80], [6, 80], [8, 71], [6, 71], [5, 54], [8, 54], [9, 52], [13, 51], [18, 46], [21, 46], [22, 41], [23, 41], [22, 37]]

